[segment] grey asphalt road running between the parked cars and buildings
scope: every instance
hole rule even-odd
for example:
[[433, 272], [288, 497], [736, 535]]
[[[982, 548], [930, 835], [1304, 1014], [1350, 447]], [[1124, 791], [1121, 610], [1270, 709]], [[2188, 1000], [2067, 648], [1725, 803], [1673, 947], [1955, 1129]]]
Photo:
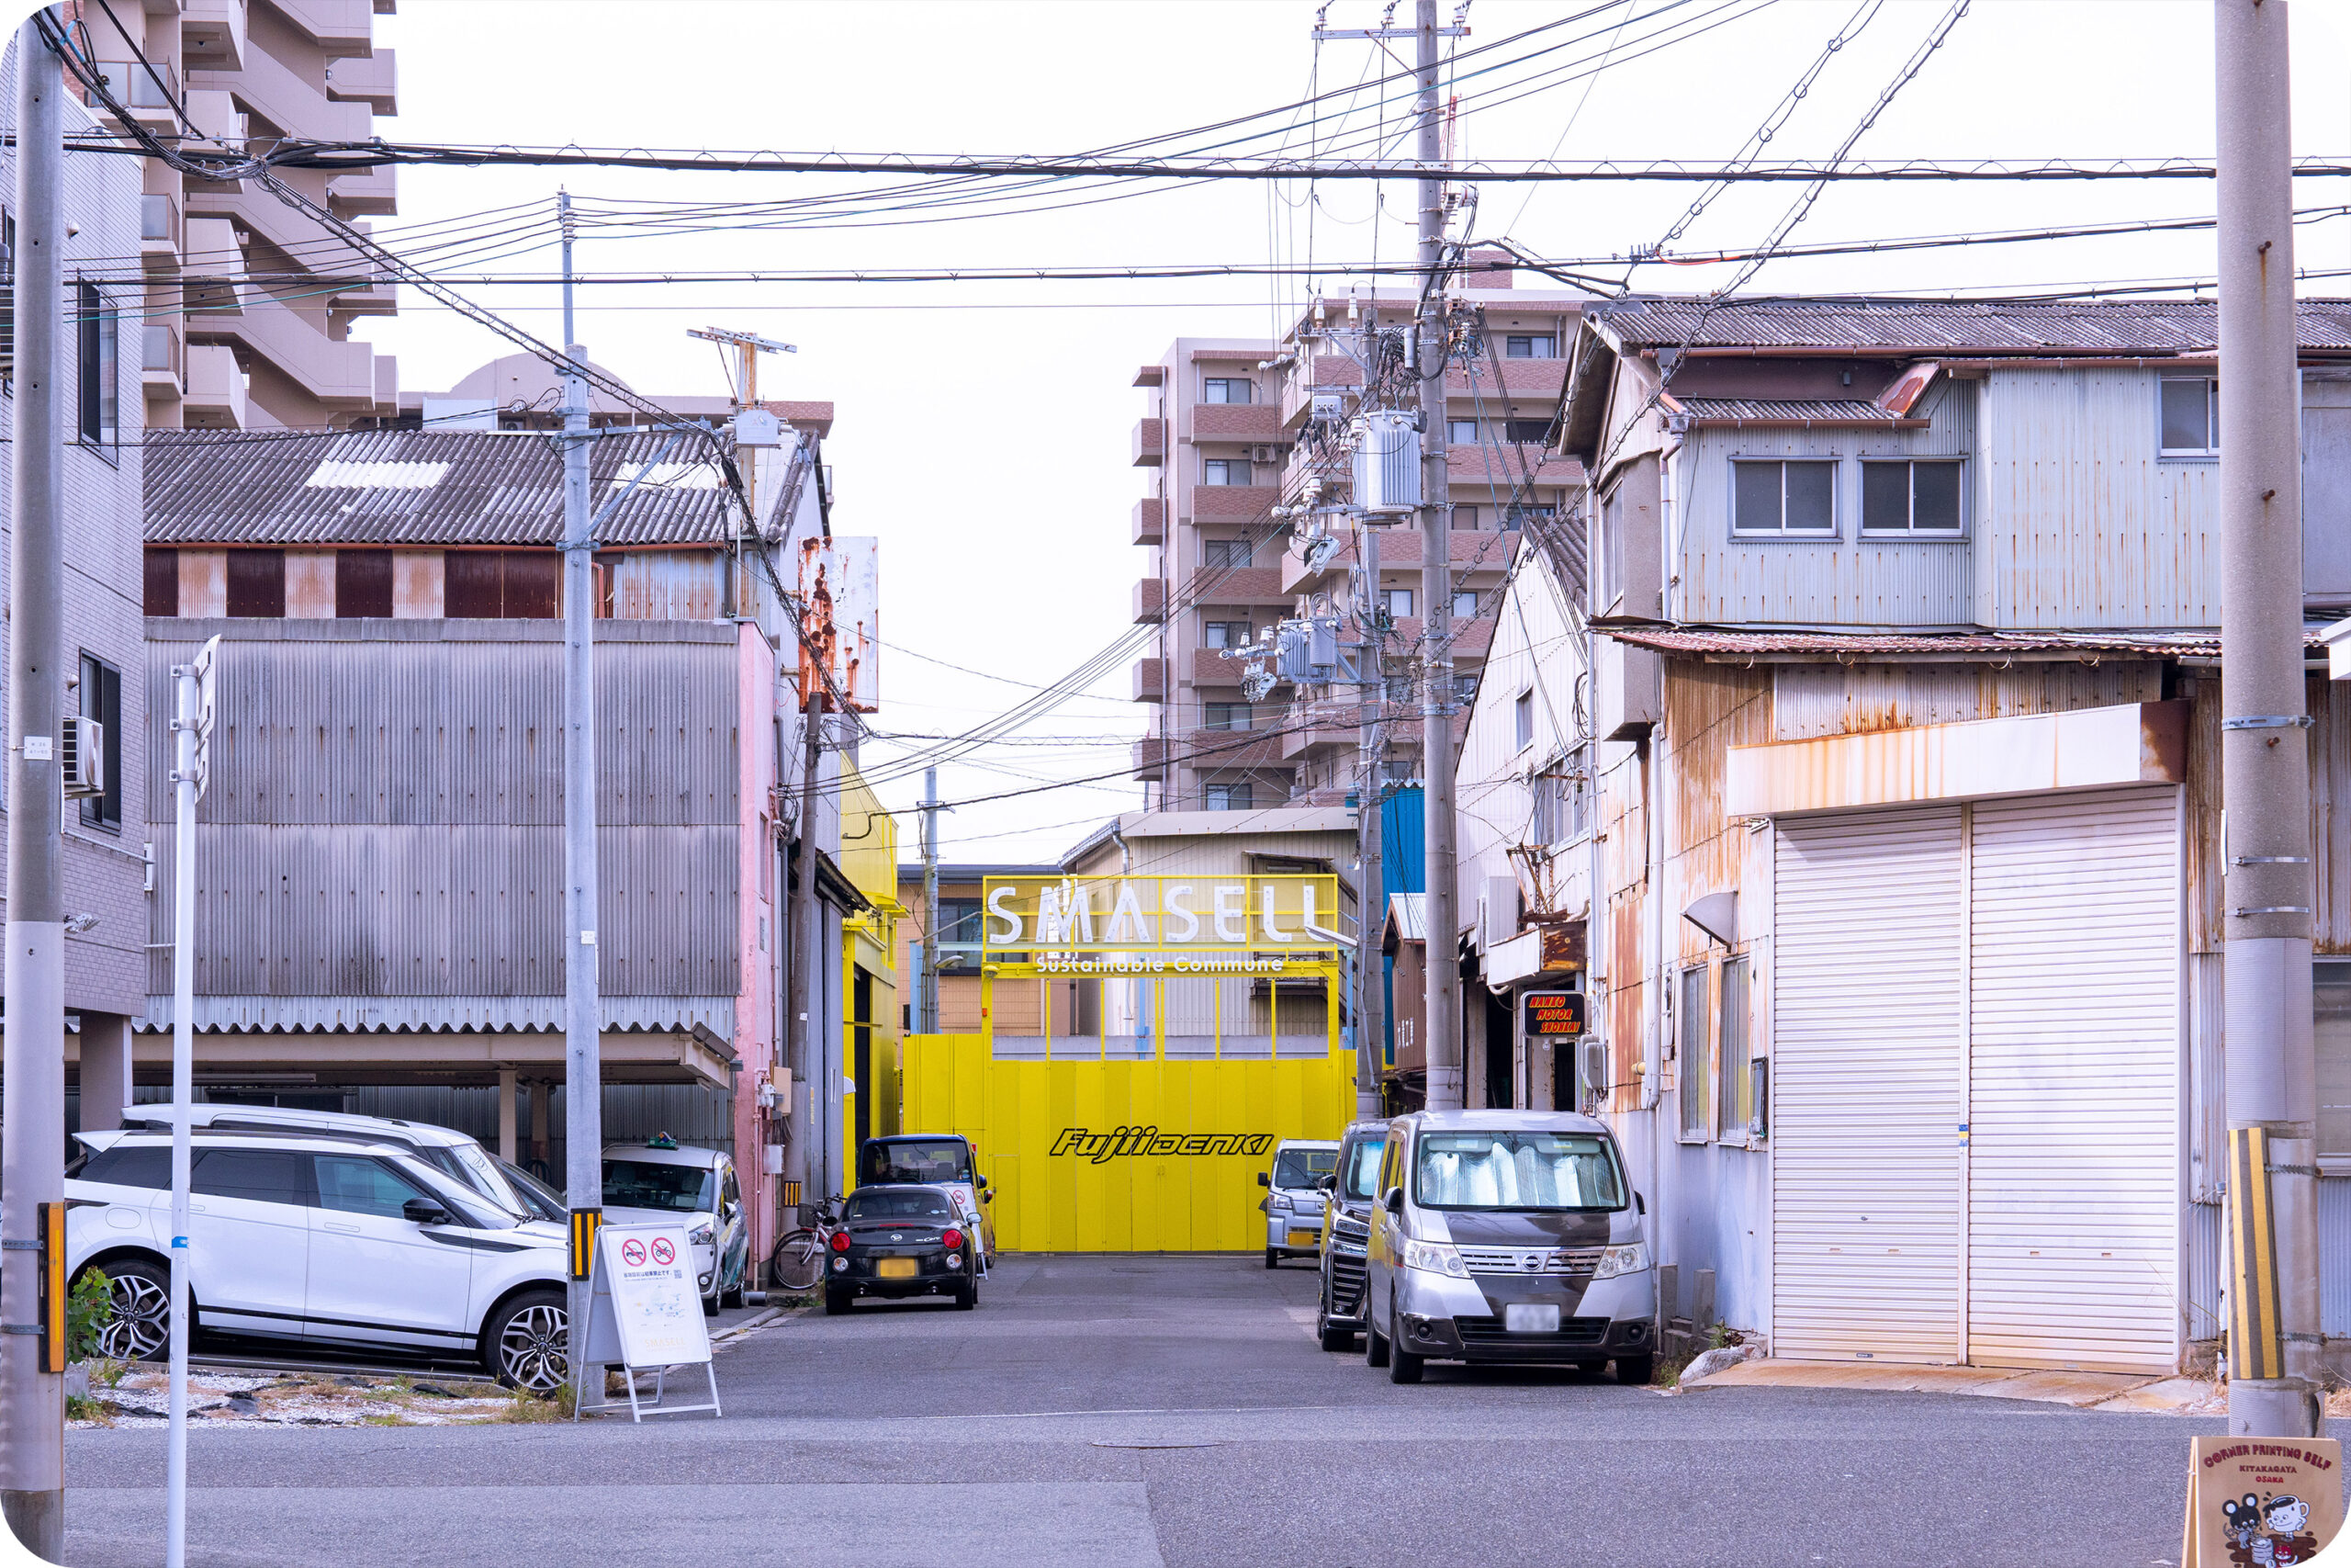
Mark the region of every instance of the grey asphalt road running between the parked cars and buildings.
[[[726, 1418], [207, 1429], [190, 1563], [1086, 1568], [2179, 1556], [2219, 1422], [1813, 1389], [1665, 1396], [1310, 1335], [1258, 1258], [1016, 1258], [978, 1312], [799, 1316], [717, 1361]], [[150, 1568], [162, 1434], [68, 1436], [68, 1561]]]

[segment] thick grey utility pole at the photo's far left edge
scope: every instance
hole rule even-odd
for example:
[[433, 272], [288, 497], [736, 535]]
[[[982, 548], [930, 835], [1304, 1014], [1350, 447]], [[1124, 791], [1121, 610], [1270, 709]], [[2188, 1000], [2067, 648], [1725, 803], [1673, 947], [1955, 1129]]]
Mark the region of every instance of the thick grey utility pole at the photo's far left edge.
[[[66, 1204], [63, 376], [66, 150], [59, 56], [16, 28], [16, 421], [9, 494], [7, 1030], [0, 1084], [0, 1514], [35, 1556], [66, 1552], [63, 1347], [49, 1333], [49, 1213]], [[49, 1371], [56, 1368], [56, 1371]]]

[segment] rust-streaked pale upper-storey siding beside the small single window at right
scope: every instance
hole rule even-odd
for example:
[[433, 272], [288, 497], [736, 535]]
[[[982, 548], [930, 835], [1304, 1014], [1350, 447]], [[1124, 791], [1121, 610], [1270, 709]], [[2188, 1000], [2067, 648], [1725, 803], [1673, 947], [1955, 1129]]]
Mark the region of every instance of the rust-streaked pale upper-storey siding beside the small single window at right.
[[1984, 383], [1982, 625], [2219, 625], [2219, 465], [2156, 456], [2156, 369]]

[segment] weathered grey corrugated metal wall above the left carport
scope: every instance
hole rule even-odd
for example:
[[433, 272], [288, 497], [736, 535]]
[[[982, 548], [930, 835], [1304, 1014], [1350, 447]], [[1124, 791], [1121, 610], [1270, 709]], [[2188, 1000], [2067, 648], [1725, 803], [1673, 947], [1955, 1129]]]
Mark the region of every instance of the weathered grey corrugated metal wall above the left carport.
[[[600, 983], [738, 985], [734, 628], [597, 628]], [[463, 621], [228, 630], [200, 806], [200, 994], [548, 997], [562, 964], [562, 644]], [[656, 635], [647, 635], [654, 632]], [[364, 632], [364, 635], [362, 635]], [[169, 689], [193, 642], [150, 642]], [[148, 717], [169, 802], [167, 710]], [[169, 938], [172, 825], [150, 823], [150, 938]], [[169, 952], [148, 992], [169, 992]]]

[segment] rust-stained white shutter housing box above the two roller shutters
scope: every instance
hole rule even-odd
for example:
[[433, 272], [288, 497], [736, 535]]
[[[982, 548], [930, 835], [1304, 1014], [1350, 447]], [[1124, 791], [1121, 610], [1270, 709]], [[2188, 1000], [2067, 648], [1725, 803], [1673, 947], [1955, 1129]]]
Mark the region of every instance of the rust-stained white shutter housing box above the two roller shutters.
[[[1770, 741], [1963, 724], [2163, 701], [2144, 661], [2027, 665], [1770, 665]], [[1744, 745], [1744, 743], [1742, 743]]]

